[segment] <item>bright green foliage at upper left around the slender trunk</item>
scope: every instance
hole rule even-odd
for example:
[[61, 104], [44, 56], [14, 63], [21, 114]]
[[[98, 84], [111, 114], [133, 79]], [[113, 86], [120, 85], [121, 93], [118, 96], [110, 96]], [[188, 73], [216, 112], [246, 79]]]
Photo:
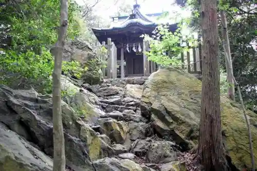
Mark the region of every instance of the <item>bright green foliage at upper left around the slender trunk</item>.
[[[80, 25], [75, 20], [79, 11], [78, 4], [70, 0], [67, 39], [80, 33]], [[2, 1], [0, 12], [0, 83], [11, 86], [21, 80], [35, 88], [40, 85], [39, 92], [50, 93], [53, 57], [49, 49], [57, 42], [60, 1]], [[75, 62], [64, 62], [63, 68], [64, 72], [72, 71], [76, 77], [81, 76], [81, 67]]]

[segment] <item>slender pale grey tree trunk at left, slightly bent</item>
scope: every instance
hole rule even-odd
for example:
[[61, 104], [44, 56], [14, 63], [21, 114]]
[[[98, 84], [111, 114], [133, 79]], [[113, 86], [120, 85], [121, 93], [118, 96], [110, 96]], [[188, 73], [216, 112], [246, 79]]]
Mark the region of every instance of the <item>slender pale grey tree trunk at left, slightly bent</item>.
[[61, 108], [61, 74], [62, 74], [62, 56], [68, 28], [68, 0], [61, 0], [60, 8], [60, 28], [58, 41], [52, 49], [54, 55], [53, 79], [53, 171], [65, 171], [65, 146], [62, 124]]

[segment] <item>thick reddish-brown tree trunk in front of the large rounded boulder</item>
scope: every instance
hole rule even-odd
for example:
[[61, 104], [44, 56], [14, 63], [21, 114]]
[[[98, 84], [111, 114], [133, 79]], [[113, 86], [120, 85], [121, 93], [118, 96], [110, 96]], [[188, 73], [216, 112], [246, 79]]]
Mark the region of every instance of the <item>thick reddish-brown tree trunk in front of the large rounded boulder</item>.
[[203, 71], [198, 155], [208, 171], [227, 170], [222, 143], [216, 0], [201, 1]]

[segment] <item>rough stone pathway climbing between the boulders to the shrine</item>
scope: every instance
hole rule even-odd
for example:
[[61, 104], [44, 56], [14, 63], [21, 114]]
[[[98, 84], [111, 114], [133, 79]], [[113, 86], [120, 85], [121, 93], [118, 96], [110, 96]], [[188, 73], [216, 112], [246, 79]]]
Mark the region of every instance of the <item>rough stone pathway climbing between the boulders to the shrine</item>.
[[[140, 97], [144, 80], [110, 79], [101, 86], [84, 85], [98, 96], [99, 105], [105, 112], [90, 126], [113, 148], [115, 155], [95, 161], [100, 170], [102, 165], [111, 167], [111, 161], [119, 163], [123, 159], [140, 164], [138, 170], [175, 170], [173, 167], [178, 163], [179, 154], [176, 144], [158, 137], [151, 121], [141, 116]], [[115, 158], [122, 160], [116, 161]]]

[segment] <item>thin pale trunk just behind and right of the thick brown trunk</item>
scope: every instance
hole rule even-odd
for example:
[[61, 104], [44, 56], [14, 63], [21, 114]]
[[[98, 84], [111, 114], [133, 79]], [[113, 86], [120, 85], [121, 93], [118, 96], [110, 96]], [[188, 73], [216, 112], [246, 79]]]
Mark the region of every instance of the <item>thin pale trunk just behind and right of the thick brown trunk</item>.
[[[229, 45], [229, 37], [228, 37], [228, 24], [227, 24], [227, 16], [224, 10], [221, 10], [221, 20], [222, 20], [222, 44], [224, 48], [224, 55], [228, 55], [228, 58], [225, 58], [226, 62], [226, 72], [227, 72], [227, 83], [228, 87], [228, 97], [231, 100], [235, 100], [235, 87], [234, 87], [234, 80], [233, 80], [233, 68], [232, 68], [232, 60], [231, 60], [231, 53], [230, 53], [230, 45]], [[229, 61], [227, 60], [229, 59]]]

